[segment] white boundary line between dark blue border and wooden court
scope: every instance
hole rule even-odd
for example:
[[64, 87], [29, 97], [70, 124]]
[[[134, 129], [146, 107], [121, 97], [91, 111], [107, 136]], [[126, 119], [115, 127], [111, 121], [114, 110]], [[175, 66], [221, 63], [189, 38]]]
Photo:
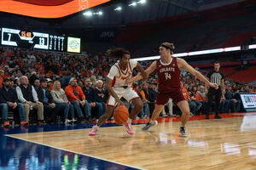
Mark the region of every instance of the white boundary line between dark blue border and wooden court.
[[34, 142], [34, 141], [30, 141], [30, 140], [27, 140], [27, 139], [21, 139], [19, 137], [14, 137], [14, 136], [10, 136], [10, 135], [13, 135], [13, 134], [7, 134], [5, 136], [8, 136], [10, 138], [14, 138], [14, 139], [20, 139], [20, 140], [24, 140], [26, 142], [31, 142], [31, 143], [34, 143], [34, 144], [41, 144], [41, 145], [44, 145], [44, 146], [48, 146], [50, 148], [55, 148], [57, 150], [64, 150], [64, 151], [68, 151], [68, 152], [73, 152], [75, 154], [79, 154], [79, 155], [82, 155], [82, 156], [89, 156], [89, 157], [92, 157], [92, 158], [95, 158], [95, 159], [99, 159], [99, 160], [102, 160], [102, 161], [109, 161], [109, 162], [112, 162], [112, 163], [116, 163], [116, 164], [119, 164], [119, 165], [123, 165], [125, 167], [132, 167], [132, 168], [137, 168], [137, 169], [142, 169], [144, 170], [143, 168], [140, 168], [140, 167], [133, 167], [131, 165], [127, 165], [125, 163], [120, 163], [120, 162], [117, 162], [117, 161], [110, 161], [110, 160], [107, 160], [107, 159], [104, 159], [104, 158], [101, 158], [101, 157], [97, 157], [97, 156], [90, 156], [90, 155], [87, 155], [87, 154], [84, 154], [84, 153], [81, 153], [81, 152], [76, 152], [76, 151], [72, 151], [72, 150], [65, 150], [63, 148], [59, 148], [59, 147], [55, 147], [55, 146], [51, 146], [49, 144], [42, 144], [42, 143], [39, 143], [39, 142]]

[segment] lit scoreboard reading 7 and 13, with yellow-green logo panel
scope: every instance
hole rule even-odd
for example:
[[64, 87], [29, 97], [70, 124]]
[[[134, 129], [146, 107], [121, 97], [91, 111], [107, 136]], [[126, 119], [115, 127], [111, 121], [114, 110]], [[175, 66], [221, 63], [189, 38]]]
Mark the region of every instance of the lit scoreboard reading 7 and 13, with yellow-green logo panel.
[[[68, 42], [67, 37], [64, 36], [51, 35], [36, 31], [2, 28], [0, 37], [1, 44], [6, 46], [67, 52]], [[71, 52], [79, 53], [78, 51]]]

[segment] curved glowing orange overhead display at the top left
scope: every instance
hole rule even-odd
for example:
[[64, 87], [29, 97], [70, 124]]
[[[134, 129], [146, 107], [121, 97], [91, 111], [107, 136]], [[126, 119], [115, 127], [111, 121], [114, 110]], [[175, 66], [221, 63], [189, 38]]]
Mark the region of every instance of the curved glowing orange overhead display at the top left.
[[61, 18], [110, 0], [1, 0], [0, 11], [37, 18]]

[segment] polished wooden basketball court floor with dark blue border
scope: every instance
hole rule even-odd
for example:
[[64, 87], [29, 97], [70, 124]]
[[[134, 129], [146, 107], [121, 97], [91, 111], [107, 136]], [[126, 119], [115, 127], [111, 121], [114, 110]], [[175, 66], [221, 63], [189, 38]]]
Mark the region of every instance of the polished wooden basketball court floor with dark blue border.
[[189, 138], [179, 136], [180, 117], [159, 118], [146, 132], [148, 120], [134, 120], [134, 135], [113, 122], [96, 136], [88, 136], [92, 124], [82, 123], [1, 128], [1, 168], [255, 169], [256, 113], [221, 116], [191, 117]]

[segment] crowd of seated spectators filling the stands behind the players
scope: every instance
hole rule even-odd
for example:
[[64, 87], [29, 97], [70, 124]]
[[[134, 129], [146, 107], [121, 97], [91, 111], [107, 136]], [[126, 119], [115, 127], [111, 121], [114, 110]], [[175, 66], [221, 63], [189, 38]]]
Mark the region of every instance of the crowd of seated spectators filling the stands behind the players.
[[[105, 111], [108, 92], [104, 89], [104, 81], [116, 59], [105, 58], [102, 54], [92, 57], [0, 47], [0, 61], [3, 127], [9, 127], [9, 111], [14, 111], [20, 126], [35, 121], [39, 125], [57, 122], [57, 117], [65, 123], [94, 122]], [[142, 62], [145, 69], [149, 64]], [[136, 119], [148, 118], [154, 110], [157, 77], [152, 75], [147, 82], [133, 84], [143, 100], [143, 111]], [[207, 90], [203, 82], [186, 71], [182, 71], [181, 82], [183, 94], [189, 101], [190, 115], [204, 114]], [[256, 88], [231, 80], [225, 80], [225, 84], [226, 93], [221, 100], [220, 112], [242, 111], [239, 93], [254, 93]], [[127, 102], [125, 105], [130, 109], [133, 107]], [[172, 99], [161, 116], [180, 116]]]

